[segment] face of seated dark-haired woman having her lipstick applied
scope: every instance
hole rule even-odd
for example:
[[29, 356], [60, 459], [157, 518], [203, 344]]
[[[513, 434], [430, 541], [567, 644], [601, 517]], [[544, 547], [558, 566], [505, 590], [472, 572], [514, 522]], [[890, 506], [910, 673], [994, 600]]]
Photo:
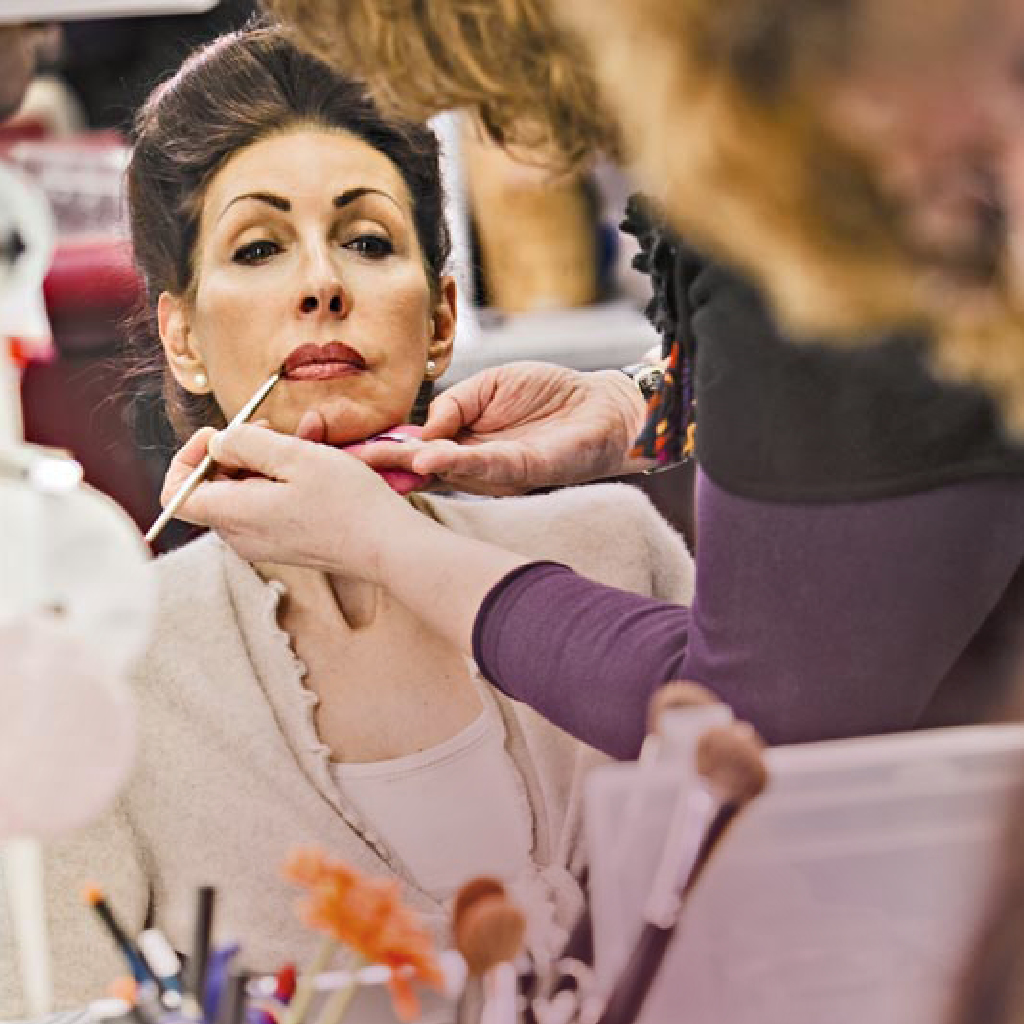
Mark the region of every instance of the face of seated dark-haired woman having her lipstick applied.
[[401, 174], [347, 132], [234, 154], [203, 198], [195, 282], [161, 296], [161, 336], [182, 386], [227, 419], [285, 366], [258, 415], [294, 433], [315, 410], [346, 444], [404, 422], [427, 360], [437, 376], [450, 358], [455, 285], [431, 292]]

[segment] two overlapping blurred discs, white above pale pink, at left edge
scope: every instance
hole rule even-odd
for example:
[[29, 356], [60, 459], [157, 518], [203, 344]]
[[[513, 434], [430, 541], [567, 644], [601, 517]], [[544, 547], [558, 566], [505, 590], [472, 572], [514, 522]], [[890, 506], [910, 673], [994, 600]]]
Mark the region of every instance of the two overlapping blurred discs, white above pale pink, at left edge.
[[153, 594], [134, 525], [81, 484], [0, 478], [0, 840], [45, 838], [89, 821], [127, 775], [126, 676]]

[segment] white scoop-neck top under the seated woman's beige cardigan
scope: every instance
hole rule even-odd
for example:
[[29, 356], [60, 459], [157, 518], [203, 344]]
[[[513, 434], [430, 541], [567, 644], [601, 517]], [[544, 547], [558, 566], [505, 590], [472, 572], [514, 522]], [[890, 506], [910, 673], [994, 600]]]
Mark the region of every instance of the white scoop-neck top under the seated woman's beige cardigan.
[[388, 761], [331, 763], [341, 792], [438, 900], [475, 876], [511, 883], [532, 866], [522, 777], [495, 698], [478, 689], [482, 711], [444, 742]]

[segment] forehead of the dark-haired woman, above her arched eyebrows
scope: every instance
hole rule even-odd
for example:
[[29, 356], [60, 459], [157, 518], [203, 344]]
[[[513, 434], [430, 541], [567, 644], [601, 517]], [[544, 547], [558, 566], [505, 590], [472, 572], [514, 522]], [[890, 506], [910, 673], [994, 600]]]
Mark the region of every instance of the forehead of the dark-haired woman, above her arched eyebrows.
[[204, 214], [216, 219], [232, 200], [252, 193], [321, 204], [361, 187], [383, 193], [399, 210], [411, 211], [404, 179], [385, 154], [350, 132], [296, 128], [233, 154], [207, 187]]

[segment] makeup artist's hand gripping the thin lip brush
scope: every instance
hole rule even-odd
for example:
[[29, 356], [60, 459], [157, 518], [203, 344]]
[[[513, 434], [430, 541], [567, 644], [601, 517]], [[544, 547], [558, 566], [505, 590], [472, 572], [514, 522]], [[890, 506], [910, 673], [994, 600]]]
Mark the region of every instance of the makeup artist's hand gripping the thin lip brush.
[[382, 549], [428, 521], [357, 459], [257, 425], [195, 433], [167, 471], [164, 504], [208, 449], [218, 469], [179, 518], [216, 530], [250, 561], [383, 583]]

